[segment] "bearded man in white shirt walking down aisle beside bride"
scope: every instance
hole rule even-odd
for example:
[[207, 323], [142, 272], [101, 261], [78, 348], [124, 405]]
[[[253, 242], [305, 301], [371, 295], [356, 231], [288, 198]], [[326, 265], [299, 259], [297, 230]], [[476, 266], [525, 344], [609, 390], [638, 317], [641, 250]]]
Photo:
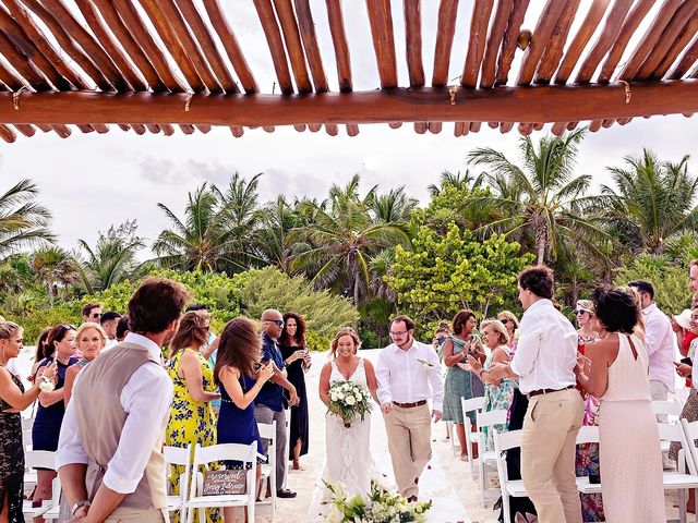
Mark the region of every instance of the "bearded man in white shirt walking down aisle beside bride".
[[375, 368], [395, 479], [410, 501], [417, 500], [419, 476], [432, 458], [432, 417], [441, 419], [444, 403], [436, 351], [413, 335], [414, 321], [396, 316], [390, 321], [393, 343], [381, 351]]

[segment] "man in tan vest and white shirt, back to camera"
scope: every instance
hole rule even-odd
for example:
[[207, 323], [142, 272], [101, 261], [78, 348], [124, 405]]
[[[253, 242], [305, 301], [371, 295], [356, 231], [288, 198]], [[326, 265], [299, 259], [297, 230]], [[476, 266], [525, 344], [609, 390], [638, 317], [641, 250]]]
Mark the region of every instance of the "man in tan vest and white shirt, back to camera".
[[189, 293], [148, 278], [129, 302], [130, 332], [75, 378], [57, 466], [72, 521], [168, 521], [163, 436], [172, 382], [160, 346]]

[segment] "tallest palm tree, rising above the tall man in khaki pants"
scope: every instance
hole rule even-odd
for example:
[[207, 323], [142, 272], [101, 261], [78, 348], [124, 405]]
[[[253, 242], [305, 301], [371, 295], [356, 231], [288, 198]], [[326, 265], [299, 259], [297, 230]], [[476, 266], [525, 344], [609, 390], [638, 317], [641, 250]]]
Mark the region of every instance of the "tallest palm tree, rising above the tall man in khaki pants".
[[[580, 129], [563, 136], [544, 137], [538, 147], [529, 136], [522, 137], [521, 166], [490, 147], [468, 155], [469, 163], [489, 169], [488, 181], [495, 195], [471, 198], [467, 205], [477, 207], [489, 203], [505, 212], [502, 219], [484, 229], [501, 229], [507, 235], [532, 229], [539, 264], [554, 260], [564, 243], [605, 256], [599, 242], [607, 242], [610, 236], [587, 211], [593, 200], [585, 196], [591, 175], [574, 174], [585, 132], [586, 129]], [[506, 192], [502, 191], [504, 187]]]

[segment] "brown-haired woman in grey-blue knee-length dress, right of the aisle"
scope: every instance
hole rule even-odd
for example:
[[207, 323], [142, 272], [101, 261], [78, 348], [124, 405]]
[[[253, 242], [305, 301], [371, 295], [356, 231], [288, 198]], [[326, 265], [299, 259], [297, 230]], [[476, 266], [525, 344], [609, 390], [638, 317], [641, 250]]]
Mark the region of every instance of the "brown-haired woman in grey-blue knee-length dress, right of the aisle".
[[[472, 311], [464, 308], [454, 317], [453, 336], [444, 342], [444, 364], [448, 367], [446, 373], [446, 381], [444, 385], [444, 417], [445, 422], [453, 422], [456, 425], [456, 434], [460, 443], [460, 458], [466, 460], [466, 427], [464, 425], [462, 406], [460, 398], [469, 400], [484, 396], [484, 386], [477, 376], [472, 376], [469, 366], [466, 365], [468, 353], [477, 354], [477, 357], [483, 362], [484, 352], [482, 352], [480, 342], [473, 337], [476, 329], [476, 315]], [[468, 422], [473, 426], [476, 416], [474, 412], [468, 413]], [[477, 457], [476, 446], [472, 450], [474, 459]]]

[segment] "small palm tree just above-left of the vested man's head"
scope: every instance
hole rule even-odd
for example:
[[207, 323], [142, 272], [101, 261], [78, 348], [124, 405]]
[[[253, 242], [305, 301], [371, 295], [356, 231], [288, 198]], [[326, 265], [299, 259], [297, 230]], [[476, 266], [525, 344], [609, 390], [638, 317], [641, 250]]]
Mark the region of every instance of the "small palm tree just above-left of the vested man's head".
[[110, 227], [99, 233], [95, 248], [84, 240], [79, 245], [84, 254], [77, 254], [80, 278], [88, 293], [104, 291], [134, 276], [139, 268], [137, 253], [145, 246], [135, 235], [135, 221], [127, 221], [118, 228]]

